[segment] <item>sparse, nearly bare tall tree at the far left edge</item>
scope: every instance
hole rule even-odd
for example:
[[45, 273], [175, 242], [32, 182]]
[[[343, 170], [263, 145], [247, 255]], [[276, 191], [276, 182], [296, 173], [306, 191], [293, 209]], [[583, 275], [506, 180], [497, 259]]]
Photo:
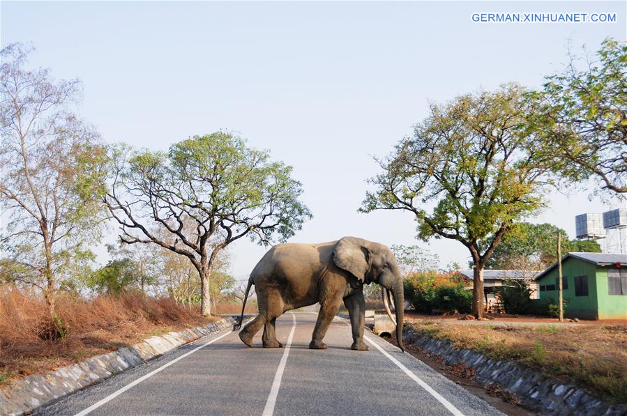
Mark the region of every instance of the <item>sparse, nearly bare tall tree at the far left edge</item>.
[[72, 112], [80, 82], [27, 69], [30, 53], [19, 43], [1, 51], [0, 205], [8, 221], [0, 246], [19, 270], [14, 277], [40, 288], [53, 307], [61, 281], [93, 260], [86, 245], [98, 240], [105, 217], [106, 151]]

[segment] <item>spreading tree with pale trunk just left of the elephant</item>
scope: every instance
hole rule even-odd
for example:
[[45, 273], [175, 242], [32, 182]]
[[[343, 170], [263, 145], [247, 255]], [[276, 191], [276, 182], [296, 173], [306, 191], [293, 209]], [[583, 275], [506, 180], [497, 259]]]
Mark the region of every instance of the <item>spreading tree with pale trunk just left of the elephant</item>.
[[292, 168], [232, 134], [195, 136], [167, 153], [118, 146], [112, 160], [104, 201], [121, 239], [189, 259], [200, 277], [204, 315], [210, 314], [209, 278], [222, 249], [245, 236], [263, 245], [286, 240], [311, 217]]

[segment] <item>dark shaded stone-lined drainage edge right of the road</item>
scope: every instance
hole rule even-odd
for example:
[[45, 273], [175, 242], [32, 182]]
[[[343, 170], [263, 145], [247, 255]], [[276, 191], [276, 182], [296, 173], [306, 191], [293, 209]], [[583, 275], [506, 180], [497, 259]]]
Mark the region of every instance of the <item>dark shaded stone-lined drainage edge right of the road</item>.
[[403, 339], [428, 353], [440, 355], [448, 365], [463, 362], [476, 370], [478, 383], [499, 385], [540, 415], [627, 415], [626, 404], [612, 406], [574, 383], [545, 378], [539, 371], [521, 364], [492, 360], [473, 350], [455, 348], [451, 341], [435, 339], [411, 328], [404, 331]]

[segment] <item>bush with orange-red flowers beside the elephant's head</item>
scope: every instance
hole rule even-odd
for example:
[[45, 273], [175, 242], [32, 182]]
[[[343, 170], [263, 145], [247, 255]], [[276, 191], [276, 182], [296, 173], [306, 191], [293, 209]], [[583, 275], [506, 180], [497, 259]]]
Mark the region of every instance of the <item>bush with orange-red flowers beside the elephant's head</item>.
[[403, 287], [405, 300], [415, 311], [426, 314], [470, 311], [472, 295], [460, 275], [435, 270], [416, 272], [403, 280]]

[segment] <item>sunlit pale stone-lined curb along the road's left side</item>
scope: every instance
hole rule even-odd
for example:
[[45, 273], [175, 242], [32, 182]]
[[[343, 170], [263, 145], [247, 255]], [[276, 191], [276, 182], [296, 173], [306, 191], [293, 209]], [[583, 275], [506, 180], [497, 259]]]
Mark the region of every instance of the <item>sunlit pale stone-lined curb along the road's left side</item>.
[[0, 415], [22, 415], [22, 413], [32, 412], [40, 406], [99, 383], [116, 373], [137, 367], [169, 350], [228, 328], [235, 321], [229, 316], [206, 326], [150, 337], [134, 346], [96, 355], [78, 364], [16, 380], [0, 390]]

